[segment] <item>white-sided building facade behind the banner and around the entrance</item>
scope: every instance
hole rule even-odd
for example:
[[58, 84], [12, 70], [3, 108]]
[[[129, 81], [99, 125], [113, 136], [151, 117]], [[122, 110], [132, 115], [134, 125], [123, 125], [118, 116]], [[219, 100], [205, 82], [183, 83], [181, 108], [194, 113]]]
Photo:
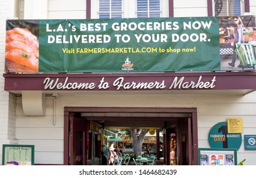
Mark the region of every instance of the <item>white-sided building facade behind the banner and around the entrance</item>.
[[[117, 4], [122, 4], [121, 10], [117, 11], [117, 13], [111, 13], [111, 10], [105, 13], [116, 15], [117, 18], [137, 18], [139, 16], [139, 1], [123, 0], [116, 2]], [[216, 15], [216, 1], [160, 0], [156, 2], [160, 2], [159, 10], [154, 12], [157, 17], [211, 17]], [[97, 116], [126, 118], [124, 122], [128, 126], [129, 120], [127, 118], [129, 117], [176, 118], [181, 116], [190, 118], [192, 116], [192, 118], [196, 118], [194, 120], [196, 123], [192, 121], [193, 127], [190, 132], [194, 132], [192, 137], [196, 140], [192, 139], [192, 142], [195, 143], [192, 150], [189, 148], [186, 150], [193, 152], [193, 154], [197, 153], [197, 148], [211, 147], [208, 134], [216, 123], [225, 122], [227, 118], [242, 118], [243, 133], [241, 135], [243, 139], [241, 147], [237, 150], [237, 161], [246, 159], [245, 165], [256, 165], [256, 150], [246, 150], [243, 137], [244, 135], [256, 135], [256, 87], [253, 88], [253, 85], [256, 86], [255, 71], [217, 72], [218, 74], [215, 74], [215, 72], [210, 72], [210, 74], [209, 72], [188, 72], [189, 74], [184, 72], [179, 74], [178, 72], [177, 74], [171, 73], [163, 76], [163, 78], [175, 77], [176, 75], [191, 78], [207, 76], [208, 74], [210, 78], [217, 76], [216, 78], [221, 78], [223, 86], [221, 86], [221, 82], [218, 83], [217, 88], [219, 89], [216, 90], [110, 90], [83, 92], [77, 90], [34, 90], [33, 88], [37, 88], [37, 86], [33, 85], [38, 85], [36, 77], [40, 78], [41, 82], [43, 78], [49, 77], [47, 74], [45, 76], [24, 74], [24, 76], [20, 73], [4, 72], [6, 19], [98, 19], [103, 15], [104, 11], [99, 8], [99, 0], [1, 0], [0, 4], [0, 165], [3, 164], [3, 144], [34, 145], [34, 163], [36, 165], [72, 165], [68, 157], [70, 153], [67, 150], [70, 147], [70, 143], [69, 140], [65, 140], [69, 137], [68, 127], [66, 126], [68, 123], [65, 122], [65, 119], [68, 120], [65, 117], [69, 117], [65, 115], [67, 113], [73, 113], [74, 115], [80, 113], [79, 116], [90, 117], [91, 121], [93, 121], [93, 117]], [[225, 3], [223, 3], [224, 5]], [[240, 1], [239, 11], [239, 15], [254, 15], [256, 13], [256, 1]], [[148, 9], [142, 11], [142, 15], [147, 13], [150, 13]], [[222, 16], [224, 14], [234, 15], [227, 14], [227, 11], [222, 11], [222, 13]], [[65, 75], [59, 74], [54, 77], [65, 78]], [[99, 79], [111, 76], [111, 74], [89, 76], [82, 73], [78, 75], [74, 76], [73, 82], [76, 82], [75, 79], [77, 78]], [[162, 78], [162, 76], [158, 75], [153, 76], [154, 78]], [[121, 76], [123, 75], [116, 74], [116, 78]], [[143, 74], [138, 76], [124, 74], [124, 77], [150, 78], [151, 74], [146, 74], [146, 76]], [[9, 89], [9, 84], [12, 83], [11, 85], [13, 86], [13, 83], [15, 83], [13, 78], [17, 79], [17, 81], [19, 81], [19, 78], [31, 79], [26, 83], [26, 85], [31, 86], [20, 86], [20, 90], [18, 90], [19, 86], [15, 86], [17, 90]], [[250, 79], [250, 82], [248, 82], [248, 86], [241, 86], [241, 88], [238, 87], [238, 83], [234, 84], [234, 86], [226, 87], [227, 83], [225, 81], [235, 78], [241, 78], [241, 80], [242, 78]], [[239, 80], [237, 79], [237, 81]], [[22, 83], [17, 83], [17, 85], [22, 85]], [[230, 83], [230, 85], [233, 85], [232, 82]], [[30, 87], [32, 89], [29, 89]], [[127, 109], [127, 112], [124, 111], [125, 109]], [[152, 112], [150, 112], [151, 109]], [[183, 109], [183, 112], [179, 113], [179, 109]], [[192, 109], [193, 111], [186, 113], [186, 109]], [[162, 128], [162, 125], [158, 126], [156, 122], [154, 120], [153, 125], [155, 123], [158, 128]], [[167, 125], [169, 124], [167, 122]], [[153, 127], [153, 125], [149, 127]], [[118, 124], [108, 126], [106, 123], [105, 127], [118, 127]], [[193, 156], [192, 158], [194, 158]], [[93, 155], [92, 157], [96, 156]], [[191, 156], [188, 157], [190, 158]], [[86, 158], [89, 160], [90, 156]], [[197, 162], [190, 160], [186, 164], [197, 165]]]

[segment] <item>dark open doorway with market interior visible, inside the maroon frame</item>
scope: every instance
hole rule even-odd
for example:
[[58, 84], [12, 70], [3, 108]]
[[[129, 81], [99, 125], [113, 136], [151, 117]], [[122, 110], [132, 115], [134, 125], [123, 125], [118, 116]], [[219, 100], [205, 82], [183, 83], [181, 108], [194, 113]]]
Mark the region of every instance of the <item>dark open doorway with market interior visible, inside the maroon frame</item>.
[[[119, 156], [123, 161], [130, 157], [124, 165], [136, 165], [139, 157], [154, 157], [153, 165], [193, 165], [197, 161], [193, 148], [194, 140], [197, 140], [194, 131], [197, 120], [191, 114], [157, 114], [157, 117], [156, 114], [142, 117], [134, 113], [133, 117], [127, 117], [126, 113], [91, 115], [70, 114], [65, 120], [70, 133], [65, 149], [70, 150], [66, 152], [70, 155], [66, 159], [70, 165], [109, 165], [110, 149], [123, 153]], [[131, 135], [125, 134], [124, 130], [130, 130]], [[138, 130], [146, 130], [143, 137], [137, 134]]]

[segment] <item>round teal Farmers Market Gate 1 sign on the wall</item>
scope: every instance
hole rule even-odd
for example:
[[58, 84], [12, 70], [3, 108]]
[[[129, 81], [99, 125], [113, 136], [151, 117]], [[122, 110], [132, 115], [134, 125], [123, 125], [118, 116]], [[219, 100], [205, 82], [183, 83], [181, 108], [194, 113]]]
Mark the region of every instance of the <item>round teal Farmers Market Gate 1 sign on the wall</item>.
[[221, 122], [211, 128], [208, 141], [213, 148], [236, 148], [238, 150], [242, 143], [242, 135], [229, 133], [227, 122]]

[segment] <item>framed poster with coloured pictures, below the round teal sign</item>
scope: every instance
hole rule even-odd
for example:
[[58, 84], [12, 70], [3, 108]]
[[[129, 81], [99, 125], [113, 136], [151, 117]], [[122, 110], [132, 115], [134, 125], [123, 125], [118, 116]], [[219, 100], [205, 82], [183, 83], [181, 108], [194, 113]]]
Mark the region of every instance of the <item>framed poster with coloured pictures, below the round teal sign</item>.
[[237, 165], [237, 149], [199, 148], [199, 165]]

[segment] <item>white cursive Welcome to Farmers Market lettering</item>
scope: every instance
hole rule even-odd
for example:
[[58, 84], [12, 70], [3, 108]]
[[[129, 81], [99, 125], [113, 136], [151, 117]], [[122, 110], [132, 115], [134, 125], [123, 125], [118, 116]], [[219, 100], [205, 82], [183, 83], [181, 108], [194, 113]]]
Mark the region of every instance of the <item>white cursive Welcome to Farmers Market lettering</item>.
[[184, 76], [182, 76], [181, 78], [175, 77], [173, 80], [169, 78], [168, 81], [162, 79], [161, 81], [145, 81], [139, 83], [135, 81], [126, 81], [126, 78], [124, 77], [117, 78], [113, 83], [107, 82], [105, 78], [91, 83], [72, 83], [69, 81], [69, 78], [66, 77], [64, 81], [61, 81], [59, 78], [56, 80], [45, 78], [43, 85], [45, 85], [44, 90], [107, 90], [110, 87], [114, 87], [116, 90], [196, 90], [215, 88], [215, 81], [215, 76], [210, 79], [199, 76], [197, 81], [188, 81]]

